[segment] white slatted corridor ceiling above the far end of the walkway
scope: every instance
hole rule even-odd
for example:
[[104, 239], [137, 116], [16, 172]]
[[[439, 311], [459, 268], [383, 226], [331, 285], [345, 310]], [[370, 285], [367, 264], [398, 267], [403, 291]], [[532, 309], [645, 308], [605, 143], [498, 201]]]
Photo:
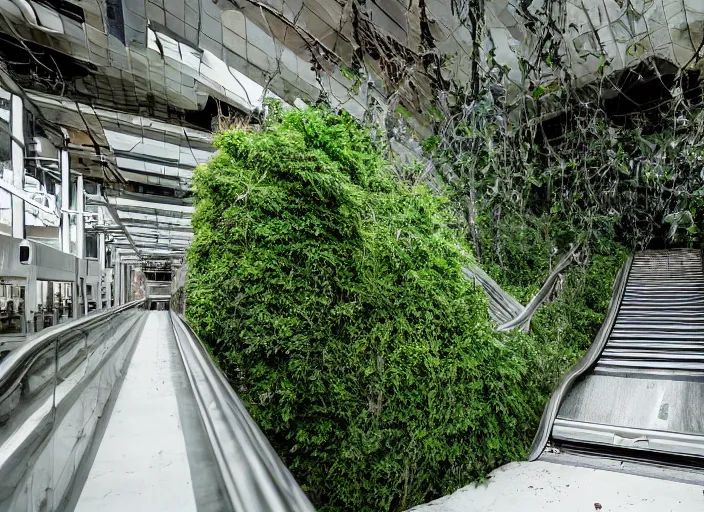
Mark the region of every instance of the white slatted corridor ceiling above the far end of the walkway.
[[213, 155], [211, 134], [46, 94], [28, 97], [47, 123], [67, 130], [71, 172], [102, 182], [85, 182], [87, 209], [95, 210], [87, 232], [104, 233], [123, 263], [182, 257], [192, 239], [193, 169]]

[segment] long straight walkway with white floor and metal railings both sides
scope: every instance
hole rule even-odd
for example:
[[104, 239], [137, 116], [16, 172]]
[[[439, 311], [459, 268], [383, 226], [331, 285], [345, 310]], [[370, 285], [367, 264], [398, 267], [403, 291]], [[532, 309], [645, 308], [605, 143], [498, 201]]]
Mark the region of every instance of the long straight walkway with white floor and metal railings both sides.
[[312, 511], [185, 321], [144, 306], [0, 365], [0, 511]]

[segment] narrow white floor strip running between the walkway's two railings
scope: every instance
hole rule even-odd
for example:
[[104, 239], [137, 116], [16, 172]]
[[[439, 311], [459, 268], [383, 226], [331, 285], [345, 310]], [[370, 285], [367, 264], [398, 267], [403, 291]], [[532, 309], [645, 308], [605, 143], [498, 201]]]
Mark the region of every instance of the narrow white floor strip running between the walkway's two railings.
[[196, 510], [168, 315], [149, 313], [76, 511]]

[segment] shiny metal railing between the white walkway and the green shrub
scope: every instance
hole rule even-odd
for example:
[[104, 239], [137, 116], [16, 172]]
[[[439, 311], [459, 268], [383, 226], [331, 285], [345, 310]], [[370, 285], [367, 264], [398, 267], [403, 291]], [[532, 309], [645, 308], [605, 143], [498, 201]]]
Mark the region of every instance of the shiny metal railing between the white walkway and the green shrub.
[[314, 511], [187, 321], [173, 311], [171, 320], [231, 510]]

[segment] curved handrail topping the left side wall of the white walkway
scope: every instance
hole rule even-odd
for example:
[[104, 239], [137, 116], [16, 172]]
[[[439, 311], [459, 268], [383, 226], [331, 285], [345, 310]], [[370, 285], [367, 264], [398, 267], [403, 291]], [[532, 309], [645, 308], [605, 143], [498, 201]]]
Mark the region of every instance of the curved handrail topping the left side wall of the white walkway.
[[103, 323], [110, 316], [135, 308], [144, 303], [144, 299], [138, 299], [127, 304], [116, 306], [99, 313], [94, 313], [78, 320], [68, 322], [46, 332], [41, 332], [22, 344], [22, 346], [10, 352], [10, 354], [0, 363], [0, 403], [4, 402], [9, 393], [12, 393], [22, 382], [22, 378], [32, 366], [34, 361], [41, 356], [44, 350], [55, 341], [70, 335], [72, 332], [85, 332], [96, 325]]

